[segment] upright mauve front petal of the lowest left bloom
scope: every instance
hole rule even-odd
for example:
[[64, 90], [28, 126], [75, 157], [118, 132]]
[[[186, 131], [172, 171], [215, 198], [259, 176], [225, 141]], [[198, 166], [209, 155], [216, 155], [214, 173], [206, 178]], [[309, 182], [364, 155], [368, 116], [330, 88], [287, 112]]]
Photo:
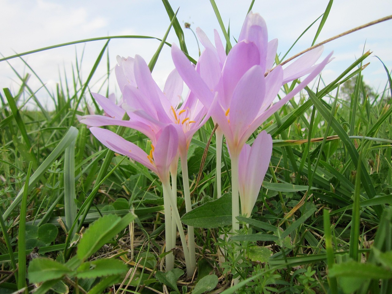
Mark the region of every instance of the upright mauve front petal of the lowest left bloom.
[[[160, 177], [169, 177], [169, 168], [178, 150], [178, 134], [173, 125], [162, 130], [154, 148], [154, 162]], [[164, 178], [161, 178], [164, 180]]]

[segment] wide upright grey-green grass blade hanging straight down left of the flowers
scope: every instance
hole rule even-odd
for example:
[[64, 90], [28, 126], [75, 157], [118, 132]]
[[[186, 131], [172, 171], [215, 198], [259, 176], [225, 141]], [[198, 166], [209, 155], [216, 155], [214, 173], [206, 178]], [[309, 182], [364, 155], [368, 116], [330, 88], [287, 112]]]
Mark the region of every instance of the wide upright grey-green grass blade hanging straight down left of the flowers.
[[[75, 194], [75, 141], [65, 149], [64, 156], [64, 213], [65, 225], [69, 229], [76, 220], [76, 194]], [[68, 232], [73, 236], [74, 232]]]

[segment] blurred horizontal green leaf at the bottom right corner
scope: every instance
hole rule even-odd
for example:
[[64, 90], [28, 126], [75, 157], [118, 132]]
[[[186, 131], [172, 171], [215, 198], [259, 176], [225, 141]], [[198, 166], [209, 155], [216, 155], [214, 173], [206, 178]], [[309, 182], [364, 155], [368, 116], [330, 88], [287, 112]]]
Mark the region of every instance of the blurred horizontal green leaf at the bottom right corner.
[[373, 263], [361, 263], [356, 261], [348, 261], [335, 264], [329, 270], [331, 277], [352, 277], [362, 279], [391, 279], [392, 271], [385, 267], [379, 267]]

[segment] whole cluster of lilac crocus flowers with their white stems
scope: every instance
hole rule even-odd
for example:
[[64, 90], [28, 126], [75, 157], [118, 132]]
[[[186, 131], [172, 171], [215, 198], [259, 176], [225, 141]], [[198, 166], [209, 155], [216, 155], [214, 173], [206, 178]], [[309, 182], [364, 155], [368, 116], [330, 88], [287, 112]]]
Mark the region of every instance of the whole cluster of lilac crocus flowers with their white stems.
[[[109, 149], [129, 156], [155, 172], [163, 185], [165, 207], [166, 250], [175, 246], [176, 226], [180, 232], [187, 273], [195, 263], [193, 228], [188, 227], [188, 245], [176, 207], [176, 174], [181, 160], [186, 210], [191, 210], [187, 152], [194, 133], [210, 118], [218, 123], [216, 130], [218, 195], [220, 188], [221, 142], [225, 136], [232, 168], [232, 231], [239, 229], [236, 217], [250, 216], [267, 172], [272, 153], [272, 138], [262, 131], [252, 146], [249, 137], [260, 125], [294, 95], [311, 82], [328, 63], [330, 55], [315, 64], [322, 53], [316, 48], [282, 68], [274, 65], [278, 41], [268, 42], [267, 27], [259, 14], [250, 12], [243, 24], [238, 42], [226, 54], [218, 32], [214, 43], [201, 29], [196, 30], [204, 51], [191, 65], [185, 54], [172, 45], [174, 69], [163, 91], [154, 82], [142, 57], [118, 57], [116, 78], [122, 92], [122, 103], [93, 94], [105, 111], [104, 116], [86, 115], [81, 122]], [[301, 76], [308, 76], [273, 104], [281, 86]], [[190, 92], [181, 101], [185, 82]], [[207, 111], [208, 110], [208, 111]], [[122, 120], [125, 113], [128, 120]], [[104, 125], [120, 125], [136, 129], [152, 142], [149, 153], [115, 133], [100, 129]], [[170, 175], [172, 187], [170, 185]], [[167, 270], [174, 266], [174, 256], [166, 257]]]

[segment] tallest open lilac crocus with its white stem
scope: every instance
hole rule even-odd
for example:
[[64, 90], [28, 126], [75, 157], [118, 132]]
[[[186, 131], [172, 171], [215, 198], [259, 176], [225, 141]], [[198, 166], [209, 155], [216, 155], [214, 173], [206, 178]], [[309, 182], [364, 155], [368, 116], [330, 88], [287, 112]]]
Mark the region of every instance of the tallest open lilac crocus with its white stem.
[[[267, 65], [272, 66], [273, 59], [268, 51], [267, 27], [260, 15], [250, 13], [247, 16], [238, 43], [226, 58], [216, 35], [216, 48], [207, 40], [204, 38], [206, 48], [200, 56], [197, 70], [176, 45], [172, 45], [172, 58], [181, 78], [210, 109], [212, 119], [225, 135], [232, 160], [232, 221], [235, 231], [239, 229], [236, 221], [239, 214], [238, 159], [245, 142], [261, 123], [321, 72], [332, 53], [318, 65], [309, 67], [306, 63], [303, 67], [297, 63], [290, 67], [286, 80], [295, 78], [299, 73], [310, 73], [290, 93], [272, 104], [285, 81], [285, 74], [281, 66], [272, 71], [267, 69]], [[274, 48], [272, 43], [270, 51], [273, 52]], [[314, 55], [311, 56], [310, 64], [314, 63]]]

